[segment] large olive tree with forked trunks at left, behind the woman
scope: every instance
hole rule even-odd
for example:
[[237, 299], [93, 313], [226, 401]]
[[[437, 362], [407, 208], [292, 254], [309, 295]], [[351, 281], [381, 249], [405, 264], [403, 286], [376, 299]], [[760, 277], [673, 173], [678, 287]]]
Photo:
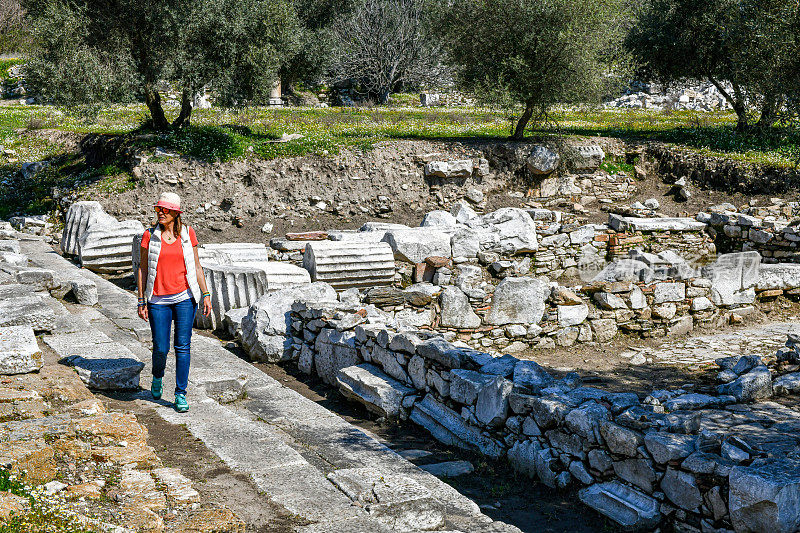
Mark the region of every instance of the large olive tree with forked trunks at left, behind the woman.
[[[189, 122], [211, 84], [224, 103], [266, 98], [296, 43], [292, 6], [274, 0], [24, 0], [33, 32], [26, 76], [56, 104], [140, 99], [157, 130]], [[181, 94], [170, 124], [159, 94]]]

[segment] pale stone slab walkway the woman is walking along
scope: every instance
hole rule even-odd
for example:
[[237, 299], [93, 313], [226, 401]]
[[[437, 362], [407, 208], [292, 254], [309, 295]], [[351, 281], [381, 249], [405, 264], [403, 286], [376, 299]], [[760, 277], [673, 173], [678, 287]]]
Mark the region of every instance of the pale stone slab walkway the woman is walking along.
[[[72, 270], [94, 281], [99, 306], [76, 308], [76, 313], [149, 361], [149, 329], [136, 316], [134, 295], [78, 269], [41, 242], [22, 245], [38, 266]], [[307, 521], [302, 533], [519, 531], [493, 522], [446, 483], [239, 359], [216, 339], [193, 337], [191, 410], [177, 414], [170, 405], [174, 364], [169, 361], [162, 401], [145, 391], [130, 399], [148, 402], [171, 423], [185, 424], [233, 470], [250, 476], [259, 491]], [[150, 377], [146, 365], [142, 384]]]

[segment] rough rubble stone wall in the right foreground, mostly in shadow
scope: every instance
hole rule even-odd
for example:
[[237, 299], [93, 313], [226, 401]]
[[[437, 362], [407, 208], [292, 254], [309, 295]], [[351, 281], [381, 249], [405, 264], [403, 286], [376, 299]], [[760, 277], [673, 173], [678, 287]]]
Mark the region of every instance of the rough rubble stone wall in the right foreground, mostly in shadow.
[[[449, 342], [452, 334], [399, 332], [374, 306], [295, 302], [291, 316], [292, 359], [302, 372], [548, 486], [583, 487], [584, 503], [626, 528], [800, 527], [792, 503], [800, 497], [800, 441], [788, 429], [798, 412], [746, 403], [796, 394], [800, 374], [773, 386], [760, 359], [721, 359], [716, 390], [686, 386], [642, 400]], [[791, 337], [787, 346], [779, 359], [797, 359]]]

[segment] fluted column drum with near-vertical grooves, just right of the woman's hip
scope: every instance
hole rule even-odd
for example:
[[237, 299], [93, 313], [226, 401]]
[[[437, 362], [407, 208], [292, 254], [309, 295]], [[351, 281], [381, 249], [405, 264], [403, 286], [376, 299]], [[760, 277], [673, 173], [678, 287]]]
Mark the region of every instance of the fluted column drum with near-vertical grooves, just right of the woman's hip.
[[211, 292], [211, 314], [198, 312], [195, 326], [217, 329], [225, 313], [239, 307], [250, 307], [267, 292], [266, 273], [254, 267], [208, 264], [203, 267], [206, 285]]

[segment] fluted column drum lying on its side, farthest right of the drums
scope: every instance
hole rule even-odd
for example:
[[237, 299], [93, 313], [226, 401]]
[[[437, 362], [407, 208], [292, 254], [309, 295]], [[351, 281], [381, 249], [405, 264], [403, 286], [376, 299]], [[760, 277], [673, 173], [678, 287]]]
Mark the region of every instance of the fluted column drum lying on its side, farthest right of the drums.
[[306, 246], [303, 267], [313, 281], [324, 281], [337, 290], [385, 286], [394, 281], [394, 255], [384, 242], [312, 242]]

